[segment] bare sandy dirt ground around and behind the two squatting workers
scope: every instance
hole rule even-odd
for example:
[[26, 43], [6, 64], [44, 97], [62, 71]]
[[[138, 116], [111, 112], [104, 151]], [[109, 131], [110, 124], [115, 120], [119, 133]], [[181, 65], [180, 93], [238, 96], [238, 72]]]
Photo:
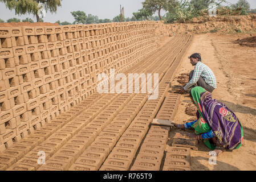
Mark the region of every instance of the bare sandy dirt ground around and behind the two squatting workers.
[[[200, 142], [198, 151], [192, 151], [192, 170], [255, 170], [256, 169], [256, 49], [234, 43], [247, 34], [201, 34], [195, 35], [192, 44], [182, 58], [176, 77], [190, 72], [193, 67], [188, 56], [200, 52], [202, 63], [208, 65], [217, 79], [213, 98], [224, 102], [241, 121], [244, 130], [242, 147], [224, 152], [217, 157], [217, 164], [210, 165], [209, 148]], [[181, 85], [175, 80], [173, 85]], [[189, 95], [182, 95], [174, 122], [184, 123], [191, 115], [185, 114]], [[172, 138], [178, 129], [172, 129]], [[172, 140], [168, 141], [170, 145]], [[168, 147], [169, 147], [168, 145]]]

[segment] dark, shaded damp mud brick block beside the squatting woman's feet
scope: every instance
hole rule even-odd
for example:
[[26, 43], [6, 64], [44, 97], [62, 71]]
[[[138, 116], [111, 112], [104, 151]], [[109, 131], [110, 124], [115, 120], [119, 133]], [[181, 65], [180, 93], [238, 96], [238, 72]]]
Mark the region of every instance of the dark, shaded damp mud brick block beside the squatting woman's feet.
[[192, 150], [198, 150], [198, 141], [195, 134], [180, 134], [176, 133], [173, 138], [172, 146], [187, 147]]

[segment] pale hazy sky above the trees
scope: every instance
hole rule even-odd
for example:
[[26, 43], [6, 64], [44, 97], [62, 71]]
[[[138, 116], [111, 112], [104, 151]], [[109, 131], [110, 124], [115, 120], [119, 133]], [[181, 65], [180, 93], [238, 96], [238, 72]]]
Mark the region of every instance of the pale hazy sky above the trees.
[[[132, 17], [132, 13], [142, 8], [141, 2], [144, 0], [62, 0], [62, 7], [58, 7], [56, 14], [47, 13], [43, 18], [44, 22], [55, 23], [57, 20], [60, 22], [74, 22], [74, 18], [71, 15], [71, 11], [84, 11], [86, 15], [92, 14], [99, 16], [99, 19], [113, 19], [116, 15], [120, 14], [120, 5], [124, 7], [125, 17]], [[237, 3], [238, 0], [227, 0], [230, 3]], [[251, 9], [256, 9], [255, 0], [247, 0]], [[6, 9], [4, 3], [0, 2], [0, 18], [7, 20], [9, 18], [25, 19], [27, 17], [32, 18], [36, 22], [36, 18], [33, 15], [15, 15], [15, 11]], [[161, 13], [162, 15], [164, 12]]]

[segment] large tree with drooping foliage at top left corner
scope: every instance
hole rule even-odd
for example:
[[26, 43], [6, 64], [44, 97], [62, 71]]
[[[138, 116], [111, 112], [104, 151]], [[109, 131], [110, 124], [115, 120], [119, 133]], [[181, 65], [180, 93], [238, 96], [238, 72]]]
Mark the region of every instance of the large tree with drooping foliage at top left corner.
[[[62, 0], [0, 0], [5, 3], [10, 10], [15, 10], [16, 15], [32, 14], [36, 16], [36, 21], [40, 22], [39, 13], [44, 9], [46, 13], [56, 13], [57, 7], [61, 6]], [[43, 5], [40, 6], [40, 4]]]

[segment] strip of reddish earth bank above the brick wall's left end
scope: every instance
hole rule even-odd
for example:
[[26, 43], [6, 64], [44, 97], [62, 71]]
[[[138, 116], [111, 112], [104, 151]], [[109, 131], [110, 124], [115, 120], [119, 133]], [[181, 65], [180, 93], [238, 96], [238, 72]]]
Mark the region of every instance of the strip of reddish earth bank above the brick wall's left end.
[[0, 23], [0, 27], [42, 27], [42, 26], [59, 26], [58, 23], [49, 22], [12, 22], [12, 23]]

